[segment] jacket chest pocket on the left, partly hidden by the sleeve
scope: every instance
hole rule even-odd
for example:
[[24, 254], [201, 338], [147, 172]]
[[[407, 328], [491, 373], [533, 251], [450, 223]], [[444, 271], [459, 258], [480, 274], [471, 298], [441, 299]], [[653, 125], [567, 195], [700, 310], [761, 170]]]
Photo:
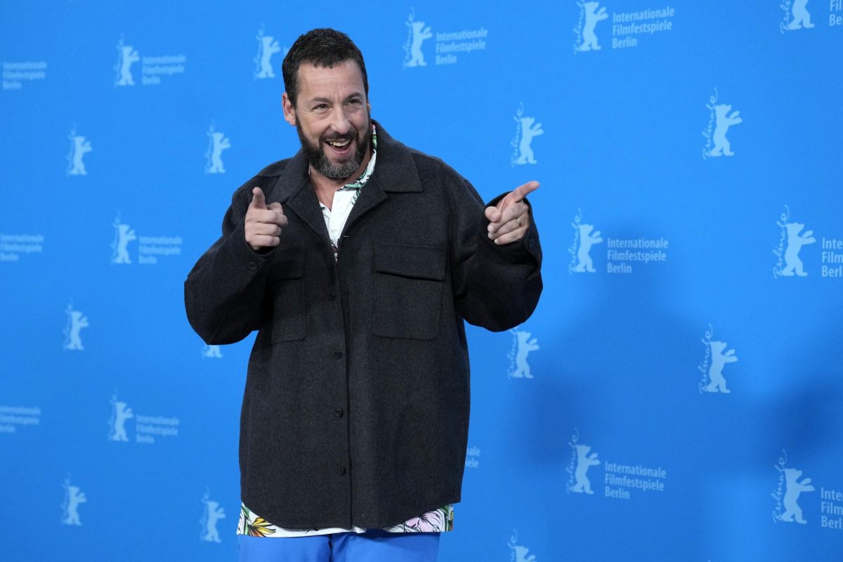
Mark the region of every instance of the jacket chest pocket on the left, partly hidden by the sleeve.
[[272, 343], [303, 340], [307, 335], [304, 293], [304, 250], [279, 249], [267, 274], [272, 297]]

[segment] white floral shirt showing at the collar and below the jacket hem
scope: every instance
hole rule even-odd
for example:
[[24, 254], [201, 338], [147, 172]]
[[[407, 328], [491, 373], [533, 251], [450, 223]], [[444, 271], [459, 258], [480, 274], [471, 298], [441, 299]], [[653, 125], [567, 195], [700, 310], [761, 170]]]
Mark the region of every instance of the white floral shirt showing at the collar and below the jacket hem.
[[[360, 190], [366, 185], [368, 179], [374, 172], [374, 163], [377, 155], [378, 135], [375, 127], [372, 126], [372, 158], [369, 159], [366, 170], [359, 178], [350, 184], [343, 185], [334, 194], [334, 201], [329, 209], [319, 203], [322, 207], [322, 216], [325, 218], [325, 226], [328, 227], [330, 246], [334, 250], [334, 259], [339, 252], [338, 244], [346, 220], [352, 212], [352, 207], [360, 196]], [[428, 511], [419, 517], [413, 517], [403, 523], [392, 527], [381, 529], [387, 533], [443, 533], [454, 529], [454, 507], [444, 506], [434, 511]], [[326, 529], [287, 529], [277, 527], [266, 521], [254, 511], [251, 511], [245, 504], [240, 504], [240, 520], [237, 523], [239, 535], [250, 535], [251, 537], [312, 537], [315, 535], [326, 535], [331, 533], [366, 533], [367, 529], [362, 527], [326, 528]]]

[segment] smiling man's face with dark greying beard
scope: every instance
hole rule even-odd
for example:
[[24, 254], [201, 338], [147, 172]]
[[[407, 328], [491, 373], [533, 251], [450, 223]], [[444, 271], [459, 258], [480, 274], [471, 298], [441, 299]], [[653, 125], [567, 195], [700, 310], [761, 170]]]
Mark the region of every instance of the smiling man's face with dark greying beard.
[[368, 163], [372, 124], [357, 63], [333, 68], [298, 67], [295, 106], [283, 96], [284, 118], [295, 125], [310, 166], [330, 179], [362, 174]]

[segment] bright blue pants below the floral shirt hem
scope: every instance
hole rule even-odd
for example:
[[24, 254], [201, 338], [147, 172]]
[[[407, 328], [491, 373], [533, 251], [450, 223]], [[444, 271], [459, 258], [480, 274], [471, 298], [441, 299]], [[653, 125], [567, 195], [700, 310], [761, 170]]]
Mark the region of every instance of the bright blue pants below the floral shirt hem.
[[439, 533], [335, 533], [266, 538], [238, 535], [239, 562], [436, 562]]

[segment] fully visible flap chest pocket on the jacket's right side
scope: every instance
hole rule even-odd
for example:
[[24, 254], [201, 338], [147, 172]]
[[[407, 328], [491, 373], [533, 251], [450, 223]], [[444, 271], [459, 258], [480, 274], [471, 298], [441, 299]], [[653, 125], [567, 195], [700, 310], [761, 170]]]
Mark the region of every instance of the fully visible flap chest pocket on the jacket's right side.
[[373, 334], [434, 339], [442, 309], [445, 249], [379, 244], [374, 249], [374, 271]]

